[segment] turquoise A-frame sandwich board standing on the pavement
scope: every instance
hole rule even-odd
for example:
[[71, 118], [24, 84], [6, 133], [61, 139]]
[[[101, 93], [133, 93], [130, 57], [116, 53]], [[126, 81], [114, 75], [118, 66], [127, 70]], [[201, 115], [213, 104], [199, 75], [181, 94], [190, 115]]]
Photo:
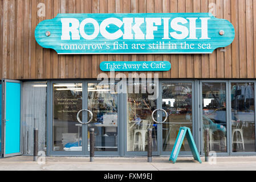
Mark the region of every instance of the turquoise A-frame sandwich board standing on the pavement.
[[188, 140], [189, 147], [192, 151], [194, 159], [202, 163], [200, 155], [197, 151], [196, 144], [194, 143], [193, 135], [189, 127], [180, 127], [180, 131], [178, 131], [178, 136], [176, 138], [175, 144], [172, 149], [172, 154], [170, 154], [169, 160], [172, 160], [173, 164], [176, 162], [178, 153], [180, 152], [180, 148], [185, 137]]

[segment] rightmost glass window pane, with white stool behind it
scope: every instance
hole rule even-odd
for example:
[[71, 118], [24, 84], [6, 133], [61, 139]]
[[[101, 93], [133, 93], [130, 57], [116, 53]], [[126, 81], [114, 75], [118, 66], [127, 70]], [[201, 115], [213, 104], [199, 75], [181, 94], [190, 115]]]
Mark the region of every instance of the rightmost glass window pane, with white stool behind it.
[[255, 151], [254, 83], [231, 83], [232, 151]]

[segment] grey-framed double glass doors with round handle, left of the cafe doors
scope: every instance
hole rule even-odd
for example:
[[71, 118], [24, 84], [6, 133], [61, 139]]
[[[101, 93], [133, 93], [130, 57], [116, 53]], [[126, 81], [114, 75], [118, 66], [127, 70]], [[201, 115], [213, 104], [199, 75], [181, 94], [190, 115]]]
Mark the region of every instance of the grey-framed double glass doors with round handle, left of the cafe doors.
[[[89, 155], [90, 128], [95, 155], [120, 155], [120, 96], [110, 88], [98, 81], [51, 81], [50, 155]], [[90, 123], [85, 110], [92, 112]]]

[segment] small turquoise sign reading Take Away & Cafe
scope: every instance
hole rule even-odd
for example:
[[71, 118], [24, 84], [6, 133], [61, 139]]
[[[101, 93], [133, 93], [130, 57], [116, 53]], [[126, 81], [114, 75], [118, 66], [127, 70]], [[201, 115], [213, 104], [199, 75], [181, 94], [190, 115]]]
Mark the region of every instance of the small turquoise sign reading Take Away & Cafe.
[[101, 71], [169, 71], [169, 61], [103, 61], [100, 63]]

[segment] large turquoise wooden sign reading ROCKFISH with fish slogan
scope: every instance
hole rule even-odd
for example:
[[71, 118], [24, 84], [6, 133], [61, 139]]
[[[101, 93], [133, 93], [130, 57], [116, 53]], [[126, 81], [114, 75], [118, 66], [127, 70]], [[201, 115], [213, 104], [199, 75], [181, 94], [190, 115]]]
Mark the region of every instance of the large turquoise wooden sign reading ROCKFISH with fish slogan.
[[58, 14], [35, 28], [36, 42], [59, 54], [212, 53], [234, 36], [209, 13]]

